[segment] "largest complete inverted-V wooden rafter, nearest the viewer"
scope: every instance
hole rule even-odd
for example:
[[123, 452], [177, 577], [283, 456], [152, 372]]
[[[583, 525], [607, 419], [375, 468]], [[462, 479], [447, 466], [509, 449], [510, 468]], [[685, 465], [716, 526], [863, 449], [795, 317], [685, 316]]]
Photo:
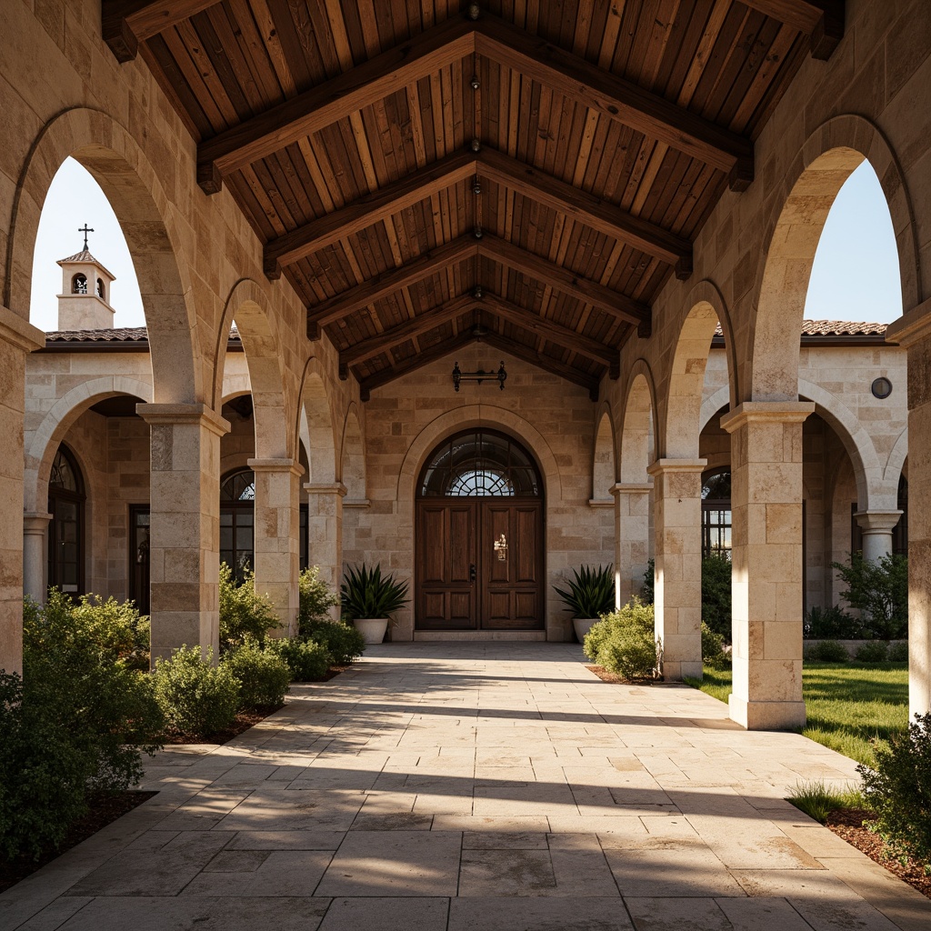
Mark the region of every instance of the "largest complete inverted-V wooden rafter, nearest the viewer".
[[753, 143], [632, 81], [488, 13], [453, 16], [408, 42], [304, 91], [197, 149], [197, 183], [208, 194], [223, 175], [272, 155], [473, 52], [513, 68], [609, 119], [665, 142], [729, 175], [733, 190], [753, 179]]

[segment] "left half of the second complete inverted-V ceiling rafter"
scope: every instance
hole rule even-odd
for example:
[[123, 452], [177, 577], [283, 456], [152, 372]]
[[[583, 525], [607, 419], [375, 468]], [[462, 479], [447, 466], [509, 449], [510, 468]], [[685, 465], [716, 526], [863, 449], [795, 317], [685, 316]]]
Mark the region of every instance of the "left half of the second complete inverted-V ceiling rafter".
[[333, 210], [313, 223], [306, 223], [284, 236], [270, 240], [265, 244], [265, 275], [270, 278], [280, 277], [282, 265], [298, 262], [346, 236], [358, 233], [372, 223], [412, 207], [475, 174], [475, 169], [474, 154], [451, 155], [341, 209]]

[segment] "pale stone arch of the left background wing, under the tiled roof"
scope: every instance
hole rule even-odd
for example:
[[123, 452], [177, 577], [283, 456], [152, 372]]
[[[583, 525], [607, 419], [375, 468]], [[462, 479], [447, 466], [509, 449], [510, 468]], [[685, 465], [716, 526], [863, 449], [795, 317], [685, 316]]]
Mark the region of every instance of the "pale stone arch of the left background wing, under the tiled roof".
[[29, 440], [25, 454], [25, 483], [23, 486], [23, 506], [27, 511], [44, 511], [48, 473], [52, 459], [61, 439], [91, 405], [104, 398], [117, 395], [130, 395], [152, 400], [152, 385], [136, 378], [121, 375], [107, 375], [95, 378], [82, 385], [76, 385], [63, 398], [52, 405]]

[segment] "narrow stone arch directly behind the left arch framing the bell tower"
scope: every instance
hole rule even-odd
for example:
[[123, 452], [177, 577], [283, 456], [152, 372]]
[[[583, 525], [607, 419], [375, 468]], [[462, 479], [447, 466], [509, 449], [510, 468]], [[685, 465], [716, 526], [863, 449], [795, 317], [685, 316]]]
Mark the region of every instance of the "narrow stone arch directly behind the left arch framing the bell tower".
[[265, 302], [263, 290], [251, 278], [241, 278], [230, 290], [217, 331], [213, 400], [216, 405], [223, 390], [226, 344], [236, 320], [249, 368], [256, 458], [290, 459], [296, 447], [288, 427], [291, 416], [285, 393], [284, 360], [271, 319], [263, 310]]

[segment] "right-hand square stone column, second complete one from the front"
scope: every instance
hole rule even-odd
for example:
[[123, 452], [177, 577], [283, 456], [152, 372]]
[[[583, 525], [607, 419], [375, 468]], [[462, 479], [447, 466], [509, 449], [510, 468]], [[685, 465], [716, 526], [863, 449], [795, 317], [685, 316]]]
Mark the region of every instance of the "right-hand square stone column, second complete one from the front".
[[654, 606], [663, 677], [701, 678], [701, 474], [707, 459], [657, 459]]

